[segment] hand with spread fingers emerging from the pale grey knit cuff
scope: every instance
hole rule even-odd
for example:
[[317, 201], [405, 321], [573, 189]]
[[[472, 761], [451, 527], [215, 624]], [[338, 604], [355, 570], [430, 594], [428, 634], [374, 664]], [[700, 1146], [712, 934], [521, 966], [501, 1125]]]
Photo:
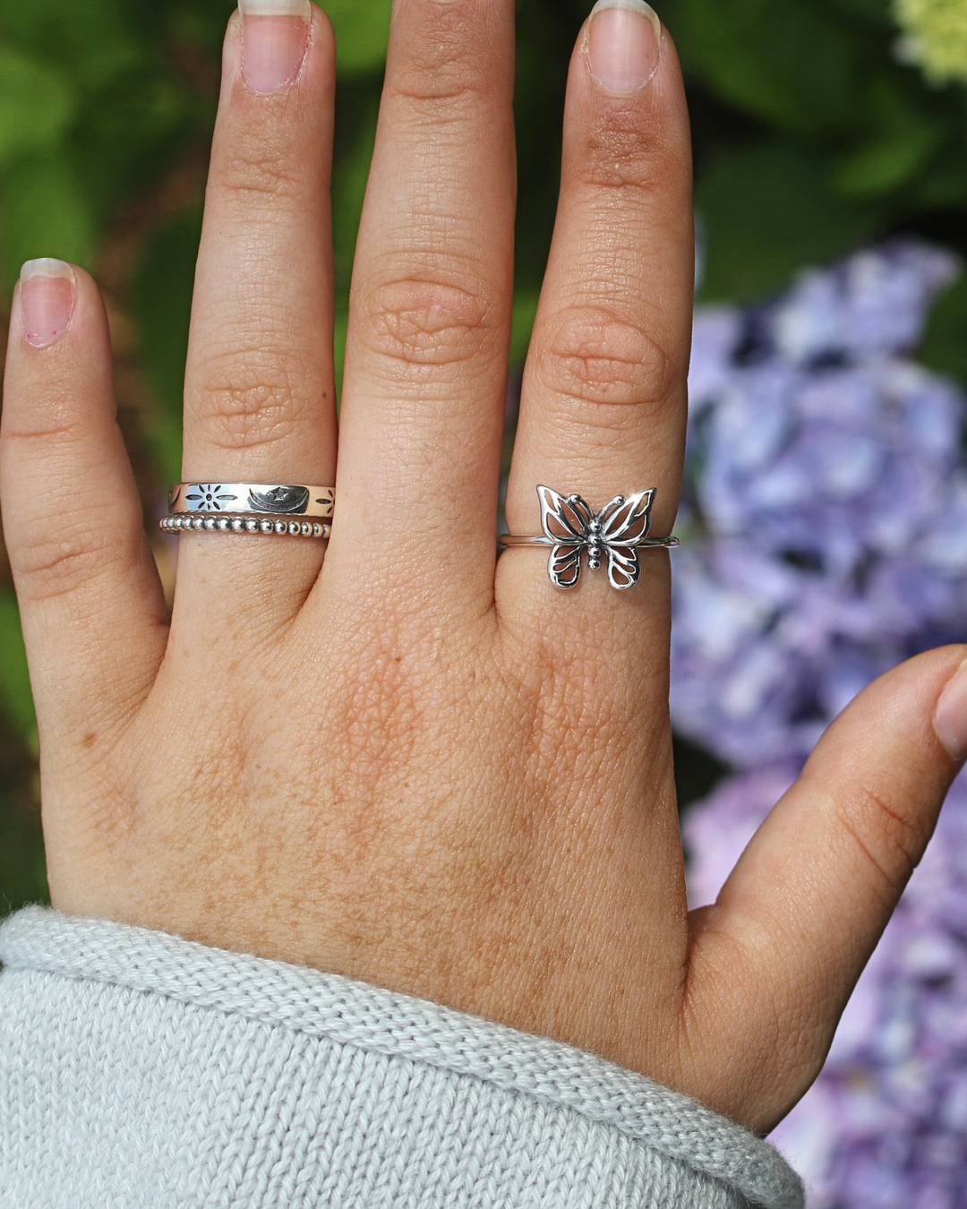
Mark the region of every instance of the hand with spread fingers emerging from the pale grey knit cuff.
[[[313, 540], [183, 536], [169, 631], [97, 290], [79, 268], [28, 270], [1, 469], [53, 902], [545, 1034], [766, 1130], [817, 1072], [931, 832], [967, 690], [945, 698], [946, 746], [934, 710], [967, 650], [869, 688], [689, 918], [668, 556], [643, 551], [621, 592], [602, 572], [561, 592], [535, 550], [494, 556], [514, 5], [396, 0], [337, 479], [332, 35], [305, 0], [243, 7], [184, 478], [335, 480], [332, 538], [323, 561]], [[572, 64], [513, 532], [539, 531], [539, 482], [596, 508], [655, 487], [653, 533], [671, 531], [691, 249], [674, 51], [625, 0]]]

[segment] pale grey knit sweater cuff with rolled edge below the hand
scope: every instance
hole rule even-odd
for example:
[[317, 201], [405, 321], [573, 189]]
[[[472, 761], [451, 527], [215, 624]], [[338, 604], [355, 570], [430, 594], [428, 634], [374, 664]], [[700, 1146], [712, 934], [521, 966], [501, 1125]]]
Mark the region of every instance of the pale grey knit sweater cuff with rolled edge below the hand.
[[775, 1150], [569, 1046], [28, 908], [0, 929], [2, 1209], [794, 1209]]

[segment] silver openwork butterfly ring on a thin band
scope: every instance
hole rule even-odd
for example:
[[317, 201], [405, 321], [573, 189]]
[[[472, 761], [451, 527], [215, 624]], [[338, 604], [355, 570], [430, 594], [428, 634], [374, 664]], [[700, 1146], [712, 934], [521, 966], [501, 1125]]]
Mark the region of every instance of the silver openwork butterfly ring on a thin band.
[[548, 575], [556, 588], [574, 588], [581, 577], [581, 555], [587, 567], [597, 571], [608, 561], [608, 583], [624, 590], [637, 583], [642, 546], [673, 549], [677, 537], [648, 537], [652, 525], [654, 488], [633, 496], [615, 496], [595, 513], [580, 496], [562, 496], [551, 487], [538, 487], [540, 501], [540, 537], [503, 533], [503, 545], [549, 545]]

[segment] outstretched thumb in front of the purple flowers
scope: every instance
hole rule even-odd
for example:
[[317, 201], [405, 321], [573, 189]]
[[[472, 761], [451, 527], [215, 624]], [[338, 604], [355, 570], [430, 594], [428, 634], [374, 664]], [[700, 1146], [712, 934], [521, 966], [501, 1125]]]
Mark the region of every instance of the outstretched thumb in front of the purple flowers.
[[691, 913], [688, 1083], [768, 1132], [836, 1023], [967, 756], [967, 647], [919, 655], [826, 731], [717, 903]]

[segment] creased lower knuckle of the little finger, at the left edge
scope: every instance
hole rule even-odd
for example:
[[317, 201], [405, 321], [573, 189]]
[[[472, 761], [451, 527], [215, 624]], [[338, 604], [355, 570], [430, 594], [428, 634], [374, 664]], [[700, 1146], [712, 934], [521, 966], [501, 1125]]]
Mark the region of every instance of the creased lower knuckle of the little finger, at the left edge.
[[28, 600], [54, 600], [102, 575], [118, 557], [103, 533], [80, 519], [75, 526], [37, 521], [10, 551], [18, 591]]

